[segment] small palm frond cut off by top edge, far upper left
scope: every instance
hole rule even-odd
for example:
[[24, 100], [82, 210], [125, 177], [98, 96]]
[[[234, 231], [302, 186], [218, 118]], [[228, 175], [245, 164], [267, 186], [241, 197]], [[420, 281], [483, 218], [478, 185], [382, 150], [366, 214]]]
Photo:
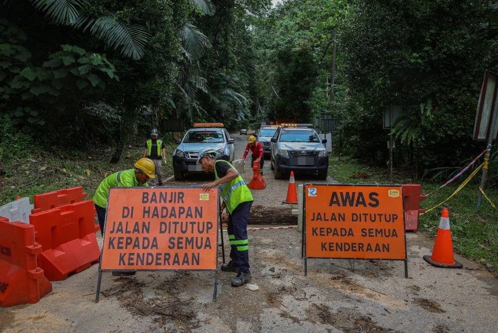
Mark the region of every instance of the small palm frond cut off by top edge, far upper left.
[[36, 9], [58, 24], [73, 24], [80, 15], [79, 10], [86, 0], [30, 0]]

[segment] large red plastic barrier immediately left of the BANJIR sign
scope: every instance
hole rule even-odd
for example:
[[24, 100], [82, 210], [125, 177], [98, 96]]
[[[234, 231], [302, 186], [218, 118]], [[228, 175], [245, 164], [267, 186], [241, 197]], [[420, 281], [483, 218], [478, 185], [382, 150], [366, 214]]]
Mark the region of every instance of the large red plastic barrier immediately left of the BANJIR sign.
[[93, 200], [85, 200], [29, 216], [43, 251], [38, 263], [50, 281], [65, 280], [99, 262]]

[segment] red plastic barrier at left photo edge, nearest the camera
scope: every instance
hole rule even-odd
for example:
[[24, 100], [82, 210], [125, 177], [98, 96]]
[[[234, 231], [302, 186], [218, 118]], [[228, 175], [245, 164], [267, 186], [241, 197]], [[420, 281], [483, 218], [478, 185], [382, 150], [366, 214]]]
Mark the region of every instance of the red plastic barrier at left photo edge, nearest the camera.
[[0, 220], [0, 306], [36, 303], [52, 290], [52, 284], [36, 264], [41, 245], [34, 227]]

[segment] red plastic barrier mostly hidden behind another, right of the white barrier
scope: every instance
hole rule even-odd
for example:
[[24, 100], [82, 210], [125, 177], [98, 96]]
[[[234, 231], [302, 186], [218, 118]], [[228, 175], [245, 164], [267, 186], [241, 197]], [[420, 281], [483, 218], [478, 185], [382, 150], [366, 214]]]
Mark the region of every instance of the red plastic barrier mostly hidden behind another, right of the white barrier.
[[83, 198], [87, 195], [87, 193], [83, 192], [82, 186], [37, 194], [33, 197], [34, 209], [31, 213], [35, 214], [44, 210], [60, 207], [62, 205], [83, 201]]

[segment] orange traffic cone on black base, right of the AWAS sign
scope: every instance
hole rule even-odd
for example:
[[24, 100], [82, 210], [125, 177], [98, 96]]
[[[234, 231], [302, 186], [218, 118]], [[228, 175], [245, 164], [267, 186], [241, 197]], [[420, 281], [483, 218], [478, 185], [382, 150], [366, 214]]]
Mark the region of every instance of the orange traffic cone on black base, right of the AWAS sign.
[[436, 267], [462, 268], [463, 265], [455, 260], [453, 255], [453, 242], [451, 241], [450, 216], [448, 208], [443, 208], [439, 229], [437, 230], [436, 241], [432, 256], [424, 255], [424, 260]]

